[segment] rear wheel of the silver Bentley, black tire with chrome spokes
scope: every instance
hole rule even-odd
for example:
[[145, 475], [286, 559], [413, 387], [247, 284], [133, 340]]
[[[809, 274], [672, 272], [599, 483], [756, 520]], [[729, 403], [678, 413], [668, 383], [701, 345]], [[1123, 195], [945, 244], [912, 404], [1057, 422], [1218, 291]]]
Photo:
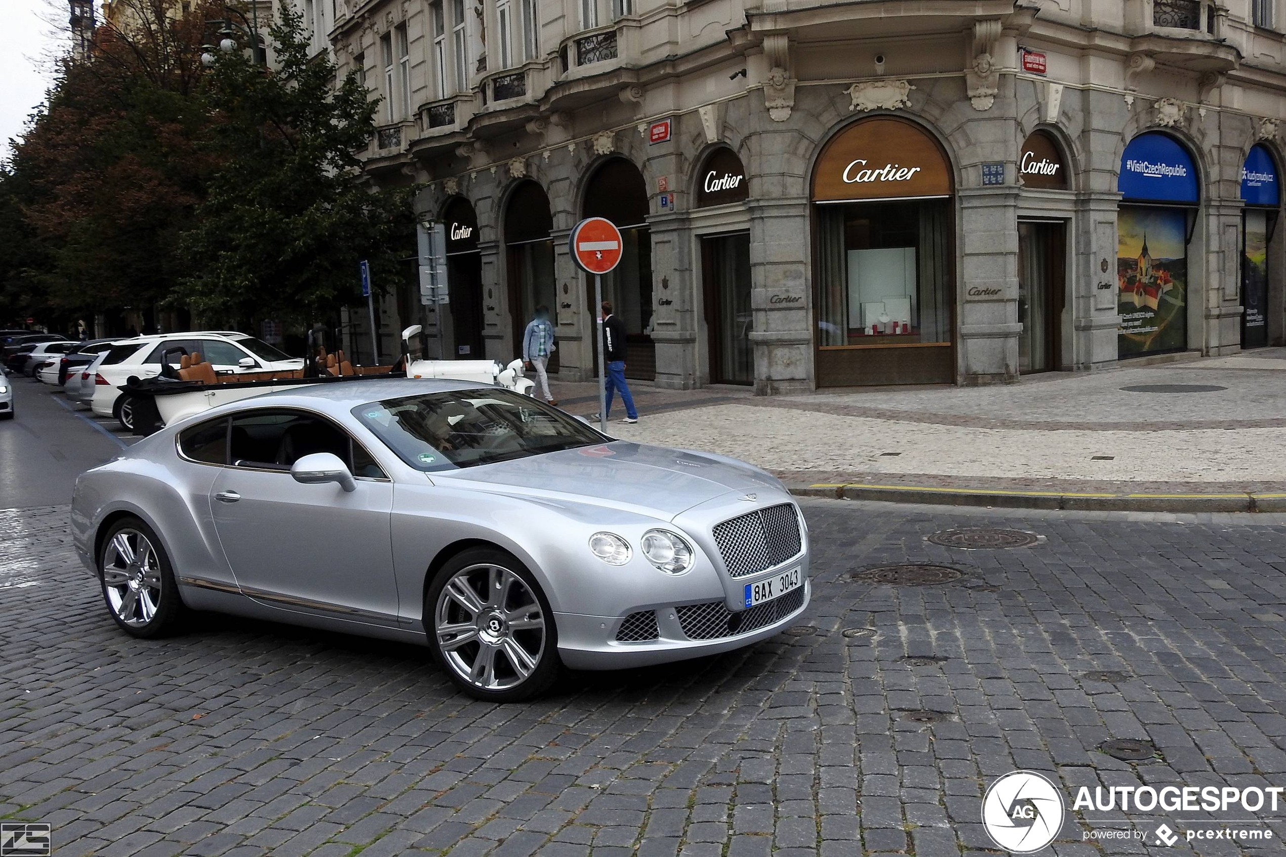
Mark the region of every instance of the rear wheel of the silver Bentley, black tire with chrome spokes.
[[[147, 552], [139, 556], [139, 537], [147, 540], [152, 560]], [[118, 538], [131, 547], [135, 561], [129, 561], [129, 551], [122, 550]], [[121, 583], [112, 586], [109, 579]], [[156, 531], [138, 518], [120, 518], [104, 533], [98, 549], [98, 581], [112, 621], [130, 636], [165, 636], [174, 631], [185, 610], [179, 585], [174, 579], [170, 555]], [[153, 590], [156, 595], [152, 594]], [[135, 597], [130, 608], [126, 603], [131, 591]]]

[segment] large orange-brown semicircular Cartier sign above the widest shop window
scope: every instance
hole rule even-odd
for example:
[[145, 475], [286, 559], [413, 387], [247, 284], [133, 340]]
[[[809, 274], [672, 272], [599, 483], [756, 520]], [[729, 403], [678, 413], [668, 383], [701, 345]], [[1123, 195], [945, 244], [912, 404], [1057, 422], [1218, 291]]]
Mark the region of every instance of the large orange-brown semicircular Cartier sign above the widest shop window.
[[840, 131], [817, 159], [813, 199], [949, 197], [952, 170], [941, 146], [918, 125], [873, 117]]

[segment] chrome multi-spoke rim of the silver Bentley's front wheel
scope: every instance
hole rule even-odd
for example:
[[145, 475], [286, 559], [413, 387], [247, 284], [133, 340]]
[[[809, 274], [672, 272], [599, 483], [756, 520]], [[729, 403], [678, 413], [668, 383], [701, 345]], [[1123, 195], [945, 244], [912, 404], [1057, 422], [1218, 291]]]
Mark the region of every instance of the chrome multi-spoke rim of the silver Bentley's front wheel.
[[545, 653], [545, 617], [535, 592], [502, 565], [468, 565], [437, 596], [433, 633], [448, 666], [484, 690], [526, 681]]

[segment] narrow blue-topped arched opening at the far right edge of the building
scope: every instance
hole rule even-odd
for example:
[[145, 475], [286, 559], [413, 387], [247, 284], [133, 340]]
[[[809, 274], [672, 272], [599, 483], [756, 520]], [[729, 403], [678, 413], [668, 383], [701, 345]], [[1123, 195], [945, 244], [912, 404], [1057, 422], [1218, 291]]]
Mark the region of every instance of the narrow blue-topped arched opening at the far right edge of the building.
[[1269, 294], [1269, 244], [1281, 212], [1277, 162], [1268, 146], [1255, 145], [1241, 167], [1241, 347], [1269, 342], [1268, 320], [1281, 316], [1281, 296]]

